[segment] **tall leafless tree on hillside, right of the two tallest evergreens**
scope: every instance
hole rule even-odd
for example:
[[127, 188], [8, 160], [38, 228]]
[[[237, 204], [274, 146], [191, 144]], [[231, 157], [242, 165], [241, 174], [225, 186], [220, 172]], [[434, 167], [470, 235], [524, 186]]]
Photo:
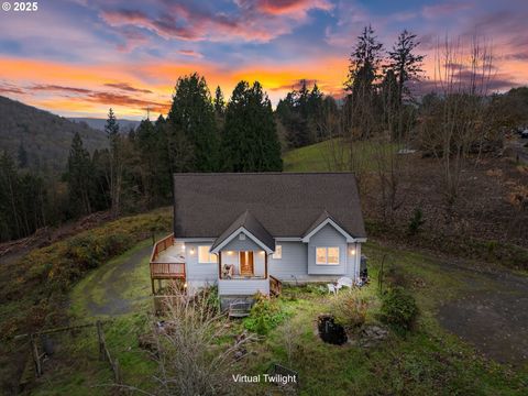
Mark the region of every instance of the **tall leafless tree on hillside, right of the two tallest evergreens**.
[[442, 168], [447, 221], [453, 217], [461, 175], [470, 153], [480, 153], [491, 120], [487, 95], [493, 80], [493, 54], [477, 37], [438, 42], [435, 55], [436, 97], [424, 105], [419, 142]]

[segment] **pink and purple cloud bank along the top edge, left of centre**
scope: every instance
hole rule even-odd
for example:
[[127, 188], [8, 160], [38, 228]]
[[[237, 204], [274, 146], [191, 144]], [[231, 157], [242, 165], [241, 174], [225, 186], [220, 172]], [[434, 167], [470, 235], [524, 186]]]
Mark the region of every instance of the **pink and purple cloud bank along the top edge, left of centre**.
[[270, 42], [307, 21], [309, 10], [329, 11], [329, 0], [237, 0], [231, 13], [196, 3], [166, 2], [157, 16], [134, 9], [103, 9], [100, 18], [112, 28], [140, 28], [166, 40]]

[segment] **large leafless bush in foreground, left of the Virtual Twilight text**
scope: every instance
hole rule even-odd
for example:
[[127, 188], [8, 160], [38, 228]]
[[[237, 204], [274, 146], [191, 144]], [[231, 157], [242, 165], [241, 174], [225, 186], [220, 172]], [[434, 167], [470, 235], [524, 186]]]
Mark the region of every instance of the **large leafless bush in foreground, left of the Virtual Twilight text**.
[[160, 373], [156, 395], [230, 395], [232, 374], [252, 336], [233, 342], [226, 318], [211, 305], [210, 290], [188, 296], [174, 290], [166, 300], [163, 328], [154, 324], [154, 356]]

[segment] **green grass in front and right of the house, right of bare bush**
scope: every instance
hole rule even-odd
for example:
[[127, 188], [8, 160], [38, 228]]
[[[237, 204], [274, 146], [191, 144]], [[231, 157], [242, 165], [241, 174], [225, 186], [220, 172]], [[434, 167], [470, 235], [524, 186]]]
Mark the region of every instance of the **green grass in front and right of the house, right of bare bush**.
[[[406, 336], [391, 333], [377, 346], [354, 344], [329, 345], [316, 333], [315, 320], [327, 312], [333, 296], [314, 296], [285, 288], [282, 298], [296, 296], [290, 319], [300, 329], [294, 362], [285, 352], [285, 326], [272, 331], [266, 341], [254, 346], [253, 374], [266, 372], [271, 362], [280, 362], [297, 371], [301, 395], [522, 395], [528, 384], [528, 367], [515, 372], [479, 355], [475, 350], [440, 328], [435, 318], [436, 307], [453, 298], [462, 284], [455, 276], [441, 271], [441, 263], [419, 253], [395, 251], [369, 243], [372, 283], [358, 293], [371, 300], [367, 323], [377, 323], [380, 298], [377, 274], [383, 255], [389, 253], [410, 283], [420, 279], [426, 287], [411, 287], [421, 315], [417, 329]], [[397, 264], [395, 264], [397, 263]], [[288, 297], [289, 296], [289, 297]], [[263, 392], [266, 386], [258, 387]]]

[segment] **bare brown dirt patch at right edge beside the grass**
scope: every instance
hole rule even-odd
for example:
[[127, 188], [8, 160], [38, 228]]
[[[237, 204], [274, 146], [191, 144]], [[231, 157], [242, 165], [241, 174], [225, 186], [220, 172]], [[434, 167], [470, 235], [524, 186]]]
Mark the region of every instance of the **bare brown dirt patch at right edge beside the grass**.
[[528, 278], [507, 272], [448, 267], [465, 279], [457, 299], [439, 308], [442, 327], [501, 363], [528, 360]]

